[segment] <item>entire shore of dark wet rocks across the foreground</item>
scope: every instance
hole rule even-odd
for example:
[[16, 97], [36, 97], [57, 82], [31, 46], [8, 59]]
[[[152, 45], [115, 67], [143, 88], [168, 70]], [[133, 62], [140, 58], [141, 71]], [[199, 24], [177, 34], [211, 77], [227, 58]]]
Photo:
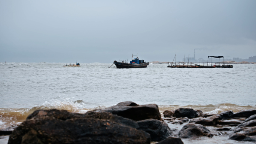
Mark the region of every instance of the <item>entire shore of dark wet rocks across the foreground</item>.
[[0, 135], [10, 135], [8, 144], [183, 144], [217, 136], [256, 142], [256, 110], [209, 115], [179, 108], [161, 116], [156, 104], [127, 101], [85, 114], [36, 110]]

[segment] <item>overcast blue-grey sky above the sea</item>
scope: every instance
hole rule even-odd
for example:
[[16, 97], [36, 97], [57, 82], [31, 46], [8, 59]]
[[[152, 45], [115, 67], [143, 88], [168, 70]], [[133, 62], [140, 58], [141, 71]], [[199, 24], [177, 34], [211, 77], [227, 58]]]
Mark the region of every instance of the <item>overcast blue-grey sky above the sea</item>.
[[[0, 62], [256, 55], [256, 0], [0, 0]], [[138, 54], [137, 54], [138, 53]]]

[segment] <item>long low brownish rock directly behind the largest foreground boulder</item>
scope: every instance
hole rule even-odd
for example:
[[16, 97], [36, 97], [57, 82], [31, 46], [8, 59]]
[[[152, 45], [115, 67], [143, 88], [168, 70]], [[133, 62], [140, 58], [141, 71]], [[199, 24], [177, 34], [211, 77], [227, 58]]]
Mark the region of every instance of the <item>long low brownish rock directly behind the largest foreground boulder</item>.
[[88, 111], [85, 114], [79, 114], [79, 113], [70, 113], [66, 110], [36, 110], [32, 114], [30, 114], [27, 119], [36, 119], [36, 118], [43, 118], [43, 117], [54, 117], [56, 119], [60, 120], [68, 120], [68, 119], [74, 119], [74, 118], [95, 118], [95, 119], [103, 119], [103, 120], [109, 120], [113, 123], [119, 123], [122, 125], [131, 126], [132, 128], [138, 128], [138, 124], [131, 119], [127, 119], [121, 116], [117, 116], [115, 114], [109, 113], [109, 112], [95, 112], [95, 111]]

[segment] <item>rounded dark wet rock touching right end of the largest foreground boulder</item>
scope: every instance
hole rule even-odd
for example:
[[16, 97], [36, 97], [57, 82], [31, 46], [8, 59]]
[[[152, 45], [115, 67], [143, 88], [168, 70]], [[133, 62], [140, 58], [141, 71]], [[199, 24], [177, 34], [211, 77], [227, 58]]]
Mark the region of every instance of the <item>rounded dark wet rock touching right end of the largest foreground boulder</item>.
[[137, 121], [140, 130], [150, 134], [151, 141], [161, 141], [170, 136], [170, 128], [167, 123], [156, 119]]

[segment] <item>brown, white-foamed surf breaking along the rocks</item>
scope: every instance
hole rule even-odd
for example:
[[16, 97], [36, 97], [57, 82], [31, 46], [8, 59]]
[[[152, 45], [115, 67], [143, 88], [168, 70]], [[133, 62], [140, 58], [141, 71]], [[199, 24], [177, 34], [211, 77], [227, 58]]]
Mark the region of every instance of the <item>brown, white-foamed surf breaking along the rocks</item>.
[[[193, 108], [195, 110], [202, 110], [206, 114], [217, 114], [223, 111], [232, 110], [235, 112], [249, 109], [256, 109], [256, 106], [240, 106], [236, 104], [224, 103], [217, 105], [159, 105], [160, 113], [165, 110], [176, 110], [178, 108]], [[42, 105], [38, 105], [30, 108], [0, 108], [0, 129], [7, 128], [14, 124], [22, 123], [29, 114], [35, 110], [49, 110], [49, 109], [67, 110], [74, 113], [86, 113], [87, 111], [105, 108], [104, 106], [98, 105], [94, 108], [87, 108], [86, 102], [82, 100], [73, 101], [70, 98], [53, 99], [45, 101]]]

